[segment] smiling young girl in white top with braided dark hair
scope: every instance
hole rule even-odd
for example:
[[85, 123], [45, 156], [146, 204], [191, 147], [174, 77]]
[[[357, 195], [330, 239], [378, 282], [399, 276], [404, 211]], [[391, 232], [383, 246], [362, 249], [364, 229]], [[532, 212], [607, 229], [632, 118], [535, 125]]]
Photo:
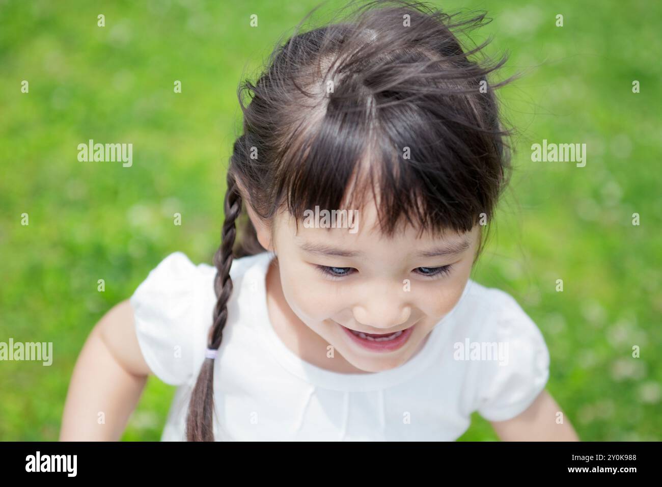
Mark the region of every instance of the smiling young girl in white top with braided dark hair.
[[510, 169], [504, 60], [453, 34], [483, 21], [373, 2], [277, 48], [240, 90], [215, 267], [174, 252], [100, 321], [61, 439], [118, 439], [150, 373], [179, 386], [164, 441], [455, 440], [473, 411], [577, 439], [536, 325], [469, 278]]

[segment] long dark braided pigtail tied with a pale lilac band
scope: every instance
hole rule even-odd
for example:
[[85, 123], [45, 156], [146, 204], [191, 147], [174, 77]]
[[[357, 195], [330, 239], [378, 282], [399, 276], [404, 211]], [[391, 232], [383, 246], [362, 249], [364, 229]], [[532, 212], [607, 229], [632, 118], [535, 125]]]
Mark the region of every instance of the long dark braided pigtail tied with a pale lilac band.
[[[216, 278], [216, 306], [214, 307], [213, 325], [209, 331], [207, 348], [217, 351], [223, 335], [223, 328], [228, 321], [228, 300], [232, 296], [230, 267], [234, 254], [232, 248], [236, 237], [236, 219], [242, 211], [242, 197], [232, 170], [228, 170], [228, 189], [225, 193], [225, 221], [221, 233], [221, 244], [214, 254]], [[214, 358], [207, 354], [191, 394], [189, 413], [186, 419], [187, 441], [214, 441]]]

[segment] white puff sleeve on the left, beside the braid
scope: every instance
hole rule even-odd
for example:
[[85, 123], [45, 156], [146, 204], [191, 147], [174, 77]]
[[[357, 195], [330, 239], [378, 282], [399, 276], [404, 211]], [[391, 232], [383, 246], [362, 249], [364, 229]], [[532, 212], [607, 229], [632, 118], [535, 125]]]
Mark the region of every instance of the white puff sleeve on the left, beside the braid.
[[[211, 266], [209, 266], [211, 268]], [[130, 298], [140, 350], [155, 376], [179, 386], [197, 378], [211, 326], [213, 272], [182, 252], [164, 258]]]

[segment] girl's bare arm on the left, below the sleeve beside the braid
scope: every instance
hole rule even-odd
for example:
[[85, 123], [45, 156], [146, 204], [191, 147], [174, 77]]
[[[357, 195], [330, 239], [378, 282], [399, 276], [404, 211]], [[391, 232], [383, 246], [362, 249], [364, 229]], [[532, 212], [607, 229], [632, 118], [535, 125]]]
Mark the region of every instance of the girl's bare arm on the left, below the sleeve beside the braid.
[[110, 309], [87, 337], [73, 369], [60, 441], [118, 441], [147, 382], [128, 300]]

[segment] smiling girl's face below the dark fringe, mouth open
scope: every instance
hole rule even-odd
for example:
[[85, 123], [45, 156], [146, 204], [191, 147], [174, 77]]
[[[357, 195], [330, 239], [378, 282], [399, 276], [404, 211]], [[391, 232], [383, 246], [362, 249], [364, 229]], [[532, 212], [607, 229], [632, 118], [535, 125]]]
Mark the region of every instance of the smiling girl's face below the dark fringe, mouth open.
[[[300, 221], [297, 233], [285, 212], [275, 221], [273, 242], [270, 229], [258, 228], [258, 237], [277, 254], [283, 296], [293, 313], [334, 354], [379, 372], [414, 356], [457, 303], [480, 232], [477, 225], [465, 234], [417, 239], [408, 226], [388, 239], [376, 226], [374, 203], [358, 216], [354, 229], [305, 227]], [[382, 336], [374, 340], [353, 331]]]

